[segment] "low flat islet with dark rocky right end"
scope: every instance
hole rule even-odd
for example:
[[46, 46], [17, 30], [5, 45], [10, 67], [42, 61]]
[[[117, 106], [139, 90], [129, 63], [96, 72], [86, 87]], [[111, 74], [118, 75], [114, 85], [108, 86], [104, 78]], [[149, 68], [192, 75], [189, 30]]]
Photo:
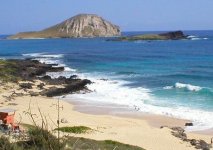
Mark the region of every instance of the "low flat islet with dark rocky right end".
[[187, 35], [185, 35], [182, 31], [174, 31], [161, 34], [123, 36], [114, 39], [109, 39], [108, 41], [181, 40], [181, 39], [187, 39]]

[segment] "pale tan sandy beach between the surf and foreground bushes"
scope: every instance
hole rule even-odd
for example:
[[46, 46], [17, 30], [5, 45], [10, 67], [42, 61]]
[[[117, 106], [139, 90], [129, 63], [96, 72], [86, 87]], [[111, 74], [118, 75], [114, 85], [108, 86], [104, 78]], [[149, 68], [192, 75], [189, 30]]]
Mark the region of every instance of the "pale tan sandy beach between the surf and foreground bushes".
[[[15, 90], [16, 89], [16, 90]], [[35, 88], [32, 89], [36, 90]], [[56, 128], [57, 122], [57, 99], [46, 97], [17, 96], [7, 100], [6, 96], [14, 93], [24, 93], [18, 90], [18, 86], [8, 84], [1, 87], [0, 103], [1, 108], [12, 108], [16, 110], [16, 122], [33, 124], [29, 112], [37, 125], [41, 125], [41, 114], [48, 123], [48, 129]], [[124, 115], [110, 114], [110, 110], [100, 111], [93, 109], [89, 111], [86, 105], [81, 105], [76, 101], [73, 104], [60, 100], [60, 119], [67, 123], [60, 126], [88, 126], [93, 132], [87, 134], [71, 134], [72, 136], [85, 137], [95, 140], [115, 140], [126, 144], [136, 145], [148, 150], [191, 150], [195, 149], [189, 142], [174, 137], [169, 128], [159, 128], [159, 126], [184, 126], [186, 120], [168, 118], [156, 115], [134, 115], [127, 113]], [[85, 109], [84, 109], [85, 108]], [[40, 112], [41, 114], [40, 114]], [[84, 110], [84, 111], [83, 111]], [[104, 109], [103, 109], [104, 110]], [[113, 111], [111, 111], [113, 112]], [[133, 117], [135, 116], [135, 117]], [[61, 134], [63, 135], [63, 134]], [[202, 139], [207, 143], [211, 141], [211, 135], [187, 133], [188, 138]]]

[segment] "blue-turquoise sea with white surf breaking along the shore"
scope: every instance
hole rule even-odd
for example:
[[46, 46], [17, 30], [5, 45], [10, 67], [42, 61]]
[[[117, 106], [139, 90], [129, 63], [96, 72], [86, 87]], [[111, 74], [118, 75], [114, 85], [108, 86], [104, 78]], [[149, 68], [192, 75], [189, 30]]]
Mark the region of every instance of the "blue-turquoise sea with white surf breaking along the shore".
[[190, 119], [195, 126], [189, 130], [212, 128], [213, 31], [185, 34], [192, 39], [113, 42], [105, 38], [5, 40], [6, 36], [0, 36], [0, 58], [33, 57], [59, 63], [65, 72], [52, 76], [77, 74], [94, 82], [88, 86], [93, 92], [70, 97]]

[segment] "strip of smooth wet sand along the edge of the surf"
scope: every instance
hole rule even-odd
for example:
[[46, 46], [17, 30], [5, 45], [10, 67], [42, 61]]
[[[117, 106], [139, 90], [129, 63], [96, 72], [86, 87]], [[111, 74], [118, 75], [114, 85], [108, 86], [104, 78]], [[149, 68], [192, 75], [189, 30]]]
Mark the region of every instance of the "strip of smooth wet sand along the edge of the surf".
[[[84, 102], [80, 99], [64, 99], [73, 105], [73, 110], [78, 111], [85, 114], [92, 115], [112, 115], [117, 117], [124, 118], [134, 118], [141, 119], [147, 121], [152, 127], [160, 128], [163, 126], [174, 127], [178, 126], [183, 129], [186, 128], [185, 123], [191, 122], [186, 119], [179, 119], [169, 116], [151, 114], [141, 112], [135, 109], [130, 109], [125, 105], [118, 104], [110, 104], [110, 103], [99, 103], [97, 101], [94, 102]], [[187, 133], [195, 133], [201, 135], [210, 135], [213, 136], [213, 129], [200, 130], [200, 131], [187, 131]]]

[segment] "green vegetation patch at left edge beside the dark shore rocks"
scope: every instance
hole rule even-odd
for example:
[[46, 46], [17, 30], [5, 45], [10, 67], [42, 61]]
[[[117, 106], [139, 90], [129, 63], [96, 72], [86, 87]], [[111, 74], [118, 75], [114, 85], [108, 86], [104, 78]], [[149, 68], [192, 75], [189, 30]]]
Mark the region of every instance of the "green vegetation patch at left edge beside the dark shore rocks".
[[0, 80], [4, 82], [17, 82], [19, 78], [16, 76], [17, 66], [12, 61], [0, 59]]

